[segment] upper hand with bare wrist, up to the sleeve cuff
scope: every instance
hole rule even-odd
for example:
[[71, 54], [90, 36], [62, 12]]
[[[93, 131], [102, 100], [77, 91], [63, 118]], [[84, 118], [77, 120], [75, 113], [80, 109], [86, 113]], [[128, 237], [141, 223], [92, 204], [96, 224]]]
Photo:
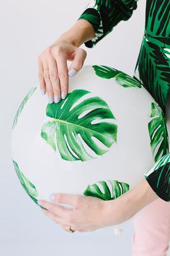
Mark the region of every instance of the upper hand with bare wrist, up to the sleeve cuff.
[[[81, 43], [95, 36], [92, 25], [78, 20], [51, 46], [38, 56], [38, 74], [42, 95], [48, 93], [48, 103], [58, 103], [68, 94], [68, 76], [73, 77], [86, 59], [86, 51], [79, 48]], [[68, 68], [67, 61], [72, 61]]]

